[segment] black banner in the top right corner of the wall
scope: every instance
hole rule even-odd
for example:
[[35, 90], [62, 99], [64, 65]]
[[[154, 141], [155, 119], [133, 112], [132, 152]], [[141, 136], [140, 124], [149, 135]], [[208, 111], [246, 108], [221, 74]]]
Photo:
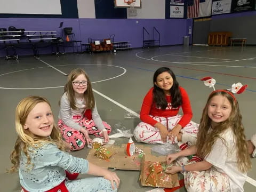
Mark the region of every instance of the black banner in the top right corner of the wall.
[[233, 0], [231, 12], [252, 11], [255, 8], [255, 0]]

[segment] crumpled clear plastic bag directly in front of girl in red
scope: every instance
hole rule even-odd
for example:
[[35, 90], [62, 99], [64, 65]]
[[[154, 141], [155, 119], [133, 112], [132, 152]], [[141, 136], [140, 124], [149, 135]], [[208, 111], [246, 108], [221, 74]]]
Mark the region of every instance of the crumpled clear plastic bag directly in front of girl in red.
[[171, 144], [169, 142], [166, 142], [164, 144], [156, 145], [151, 148], [151, 151], [165, 156], [171, 153], [177, 153], [180, 151], [179, 146], [177, 144]]

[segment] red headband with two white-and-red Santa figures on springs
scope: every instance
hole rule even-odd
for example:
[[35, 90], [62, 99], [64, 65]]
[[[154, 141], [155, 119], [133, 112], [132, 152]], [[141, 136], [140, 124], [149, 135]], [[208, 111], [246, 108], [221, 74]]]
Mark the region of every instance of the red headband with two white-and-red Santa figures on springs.
[[235, 95], [233, 93], [241, 94], [241, 93], [243, 93], [246, 90], [246, 87], [247, 87], [247, 85], [242, 85], [242, 83], [238, 82], [238, 83], [234, 83], [231, 86], [231, 89], [215, 90], [214, 85], [215, 85], [216, 81], [215, 81], [214, 78], [212, 78], [212, 77], [204, 77], [204, 78], [202, 78], [200, 80], [204, 82], [205, 86], [213, 87], [214, 91], [211, 92], [211, 94], [223, 91], [223, 92], [226, 92], [226, 93], [230, 94], [231, 97], [235, 100], [235, 102], [236, 102], [236, 98], [235, 98]]

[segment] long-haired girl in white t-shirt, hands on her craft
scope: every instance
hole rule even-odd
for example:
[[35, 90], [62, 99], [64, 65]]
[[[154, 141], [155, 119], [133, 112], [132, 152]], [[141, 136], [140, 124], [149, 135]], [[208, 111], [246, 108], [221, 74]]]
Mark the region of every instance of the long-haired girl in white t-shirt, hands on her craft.
[[[198, 154], [201, 162], [186, 156]], [[251, 169], [242, 116], [233, 93], [213, 91], [204, 107], [197, 142], [166, 157], [174, 163], [169, 173], [181, 172], [188, 191], [244, 191], [246, 173]]]

